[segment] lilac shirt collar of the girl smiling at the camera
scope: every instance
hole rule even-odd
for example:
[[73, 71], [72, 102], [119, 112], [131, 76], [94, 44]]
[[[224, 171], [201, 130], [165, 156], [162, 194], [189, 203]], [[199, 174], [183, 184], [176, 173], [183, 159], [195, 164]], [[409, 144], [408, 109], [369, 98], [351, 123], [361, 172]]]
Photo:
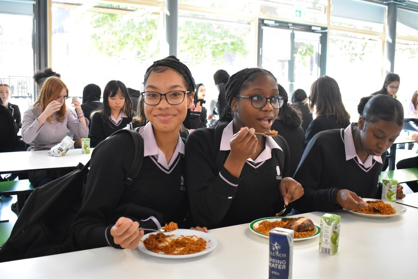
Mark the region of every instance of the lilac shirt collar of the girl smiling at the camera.
[[178, 134], [178, 140], [176, 148], [174, 149], [173, 156], [167, 164], [166, 155], [160, 150], [155, 141], [153, 125], [148, 122], [144, 127], [141, 127], [138, 131], [144, 139], [144, 157], [155, 156], [157, 162], [168, 169], [176, 160], [177, 154], [181, 153], [184, 155], [184, 143], [181, 140], [180, 134]]

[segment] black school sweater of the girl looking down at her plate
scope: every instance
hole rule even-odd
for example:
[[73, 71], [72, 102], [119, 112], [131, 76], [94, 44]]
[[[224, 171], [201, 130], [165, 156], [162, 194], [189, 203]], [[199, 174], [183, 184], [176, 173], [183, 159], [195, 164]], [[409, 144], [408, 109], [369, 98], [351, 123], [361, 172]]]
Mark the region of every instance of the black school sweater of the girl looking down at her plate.
[[[344, 129], [318, 133], [306, 146], [293, 179], [302, 184], [303, 196], [293, 202], [300, 213], [341, 209], [334, 202], [338, 189], [348, 189], [364, 198], [380, 198], [379, 176], [382, 164], [375, 161], [369, 169], [359, 166], [357, 158], [346, 161]], [[385, 154], [382, 155], [385, 162]]]

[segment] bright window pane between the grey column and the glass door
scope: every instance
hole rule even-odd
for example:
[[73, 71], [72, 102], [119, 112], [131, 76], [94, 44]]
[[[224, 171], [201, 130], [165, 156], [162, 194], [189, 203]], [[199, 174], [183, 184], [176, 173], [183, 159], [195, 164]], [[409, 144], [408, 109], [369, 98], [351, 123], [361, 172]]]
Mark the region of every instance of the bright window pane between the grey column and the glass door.
[[[224, 69], [230, 75], [255, 67], [254, 36], [246, 20], [179, 12], [178, 59], [206, 85], [206, 102], [217, 98], [213, 74]], [[212, 87], [210, 87], [212, 85]]]

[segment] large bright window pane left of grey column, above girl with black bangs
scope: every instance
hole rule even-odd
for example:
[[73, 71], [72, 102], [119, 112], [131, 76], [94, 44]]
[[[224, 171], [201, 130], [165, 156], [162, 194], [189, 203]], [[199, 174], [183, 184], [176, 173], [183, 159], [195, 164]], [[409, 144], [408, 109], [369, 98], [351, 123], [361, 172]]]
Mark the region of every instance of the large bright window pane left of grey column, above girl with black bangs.
[[91, 1], [53, 1], [52, 67], [71, 97], [112, 79], [141, 89], [147, 67], [158, 59], [160, 8]]

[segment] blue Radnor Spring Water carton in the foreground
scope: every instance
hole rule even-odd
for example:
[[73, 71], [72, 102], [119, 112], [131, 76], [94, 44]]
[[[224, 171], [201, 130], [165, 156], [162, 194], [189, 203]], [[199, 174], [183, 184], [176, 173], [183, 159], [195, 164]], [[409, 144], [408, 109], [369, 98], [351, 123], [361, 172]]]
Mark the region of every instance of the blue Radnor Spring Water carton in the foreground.
[[292, 278], [293, 230], [274, 228], [270, 230], [268, 278]]

